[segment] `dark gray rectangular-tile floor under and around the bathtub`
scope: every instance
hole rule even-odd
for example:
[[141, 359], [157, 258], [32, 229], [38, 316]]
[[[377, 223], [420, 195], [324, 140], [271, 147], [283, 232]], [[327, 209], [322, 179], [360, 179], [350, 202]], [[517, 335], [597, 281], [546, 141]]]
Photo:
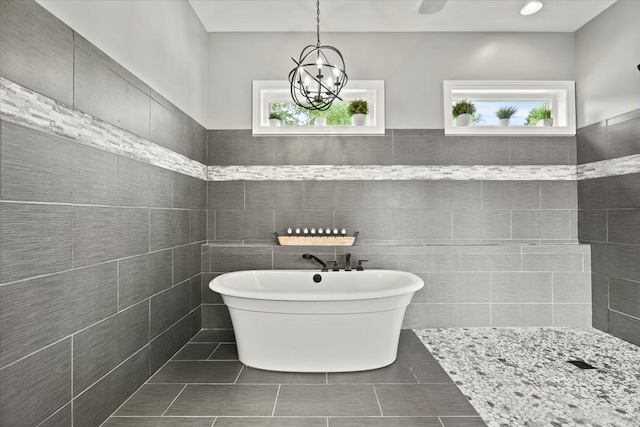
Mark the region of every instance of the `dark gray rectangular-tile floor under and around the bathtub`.
[[392, 365], [354, 373], [244, 366], [233, 334], [200, 331], [105, 427], [480, 427], [485, 423], [418, 337]]

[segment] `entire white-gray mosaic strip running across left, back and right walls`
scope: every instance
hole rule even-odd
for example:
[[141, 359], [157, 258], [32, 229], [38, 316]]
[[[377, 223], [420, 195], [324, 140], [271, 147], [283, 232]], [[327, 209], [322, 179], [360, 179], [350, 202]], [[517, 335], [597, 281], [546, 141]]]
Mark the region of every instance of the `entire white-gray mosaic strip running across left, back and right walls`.
[[0, 77], [0, 118], [206, 181], [583, 180], [640, 172], [640, 154], [578, 166], [205, 166]]

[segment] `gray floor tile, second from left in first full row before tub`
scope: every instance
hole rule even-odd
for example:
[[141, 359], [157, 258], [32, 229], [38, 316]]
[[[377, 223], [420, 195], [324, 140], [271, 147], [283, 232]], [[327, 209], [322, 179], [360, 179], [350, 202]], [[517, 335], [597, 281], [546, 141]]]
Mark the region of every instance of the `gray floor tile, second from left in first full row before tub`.
[[167, 415], [271, 416], [277, 393], [277, 385], [189, 384]]

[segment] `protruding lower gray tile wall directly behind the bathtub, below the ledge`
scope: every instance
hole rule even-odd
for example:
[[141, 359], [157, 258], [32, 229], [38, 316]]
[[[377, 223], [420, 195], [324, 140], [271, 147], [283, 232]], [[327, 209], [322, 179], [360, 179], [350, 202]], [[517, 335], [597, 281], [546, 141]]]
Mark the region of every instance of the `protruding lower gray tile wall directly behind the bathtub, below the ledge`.
[[[204, 245], [202, 326], [231, 328], [227, 307], [209, 282], [221, 273], [249, 269], [318, 270], [313, 253], [342, 267], [413, 272], [425, 282], [409, 305], [404, 328], [573, 326], [591, 324], [588, 245], [503, 246], [266, 246]], [[551, 260], [557, 260], [551, 262]], [[358, 274], [354, 271], [353, 274]]]

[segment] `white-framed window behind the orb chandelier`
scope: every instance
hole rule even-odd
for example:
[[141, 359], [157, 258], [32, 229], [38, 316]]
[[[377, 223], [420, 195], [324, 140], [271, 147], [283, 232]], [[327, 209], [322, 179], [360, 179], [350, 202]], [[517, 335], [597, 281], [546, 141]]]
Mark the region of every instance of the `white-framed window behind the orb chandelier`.
[[[254, 135], [342, 134], [377, 135], [385, 133], [384, 81], [350, 80], [340, 92], [342, 101], [336, 100], [327, 111], [310, 111], [296, 105], [289, 90], [288, 81], [253, 82]], [[355, 99], [367, 101], [369, 112], [364, 126], [351, 124], [347, 113], [349, 102]], [[271, 126], [269, 115], [279, 113], [280, 126]], [[326, 125], [317, 126], [316, 118], [324, 117]]]

